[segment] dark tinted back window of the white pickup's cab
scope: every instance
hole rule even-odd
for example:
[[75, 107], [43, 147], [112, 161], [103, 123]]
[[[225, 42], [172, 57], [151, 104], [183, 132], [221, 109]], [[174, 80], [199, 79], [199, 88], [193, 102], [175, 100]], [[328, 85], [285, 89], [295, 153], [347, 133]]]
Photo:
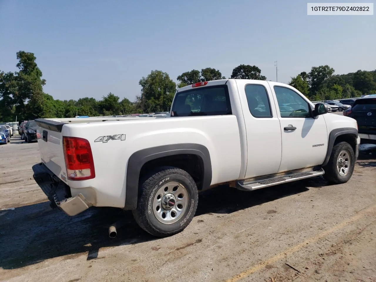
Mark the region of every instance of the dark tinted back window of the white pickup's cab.
[[177, 92], [171, 109], [171, 117], [231, 114], [227, 85], [202, 86]]

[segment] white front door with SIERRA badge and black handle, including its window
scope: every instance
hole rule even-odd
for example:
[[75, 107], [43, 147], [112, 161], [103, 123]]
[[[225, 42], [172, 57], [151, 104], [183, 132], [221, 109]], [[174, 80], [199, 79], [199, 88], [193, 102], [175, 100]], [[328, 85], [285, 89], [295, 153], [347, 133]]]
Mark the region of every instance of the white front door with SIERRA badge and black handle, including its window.
[[279, 108], [282, 160], [278, 172], [321, 165], [327, 150], [323, 115], [312, 116], [312, 107], [287, 85], [269, 82]]

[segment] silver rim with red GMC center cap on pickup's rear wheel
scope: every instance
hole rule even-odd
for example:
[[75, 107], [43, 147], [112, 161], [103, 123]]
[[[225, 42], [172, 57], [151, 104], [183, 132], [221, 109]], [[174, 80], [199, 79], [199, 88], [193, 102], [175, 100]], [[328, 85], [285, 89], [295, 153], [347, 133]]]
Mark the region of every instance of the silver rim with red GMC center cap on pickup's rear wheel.
[[178, 182], [167, 182], [156, 191], [153, 212], [156, 219], [171, 224], [183, 217], [189, 203], [188, 191]]

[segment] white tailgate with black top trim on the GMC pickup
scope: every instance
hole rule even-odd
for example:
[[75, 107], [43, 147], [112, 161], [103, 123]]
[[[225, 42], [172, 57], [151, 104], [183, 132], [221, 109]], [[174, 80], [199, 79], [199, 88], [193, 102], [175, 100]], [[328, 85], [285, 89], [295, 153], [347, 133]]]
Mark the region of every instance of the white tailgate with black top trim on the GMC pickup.
[[62, 145], [62, 126], [64, 123], [52, 120], [36, 119], [36, 134], [41, 161], [56, 176], [66, 181], [67, 171], [65, 168], [64, 152]]

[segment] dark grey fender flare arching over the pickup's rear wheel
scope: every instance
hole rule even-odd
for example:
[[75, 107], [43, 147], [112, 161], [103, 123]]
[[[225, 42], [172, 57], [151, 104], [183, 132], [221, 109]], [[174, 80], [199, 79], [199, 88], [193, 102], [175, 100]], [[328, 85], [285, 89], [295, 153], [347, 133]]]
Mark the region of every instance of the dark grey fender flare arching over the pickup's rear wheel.
[[203, 163], [202, 187], [209, 187], [212, 180], [212, 167], [209, 150], [205, 146], [183, 143], [146, 148], [134, 152], [128, 160], [124, 209], [132, 210], [137, 208], [139, 174], [144, 164], [153, 159], [181, 154], [197, 155], [201, 158]]

